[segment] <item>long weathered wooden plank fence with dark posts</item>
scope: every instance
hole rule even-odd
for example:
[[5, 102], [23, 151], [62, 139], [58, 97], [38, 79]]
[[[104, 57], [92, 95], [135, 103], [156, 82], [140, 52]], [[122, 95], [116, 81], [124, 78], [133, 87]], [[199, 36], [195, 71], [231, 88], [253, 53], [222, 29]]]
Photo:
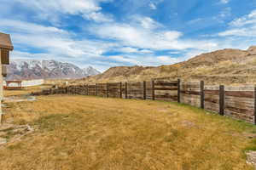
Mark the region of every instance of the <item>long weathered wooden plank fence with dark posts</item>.
[[175, 101], [256, 124], [255, 93], [256, 88], [254, 86], [205, 86], [202, 81], [155, 80], [151, 82], [114, 82], [67, 86], [32, 94], [79, 94], [106, 98]]

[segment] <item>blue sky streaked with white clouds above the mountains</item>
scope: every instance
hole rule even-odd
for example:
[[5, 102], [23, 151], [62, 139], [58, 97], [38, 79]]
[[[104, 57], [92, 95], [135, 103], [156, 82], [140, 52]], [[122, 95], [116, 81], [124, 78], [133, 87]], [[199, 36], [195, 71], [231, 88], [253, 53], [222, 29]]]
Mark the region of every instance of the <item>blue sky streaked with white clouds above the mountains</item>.
[[256, 45], [256, 0], [0, 0], [0, 31], [11, 59], [171, 65]]

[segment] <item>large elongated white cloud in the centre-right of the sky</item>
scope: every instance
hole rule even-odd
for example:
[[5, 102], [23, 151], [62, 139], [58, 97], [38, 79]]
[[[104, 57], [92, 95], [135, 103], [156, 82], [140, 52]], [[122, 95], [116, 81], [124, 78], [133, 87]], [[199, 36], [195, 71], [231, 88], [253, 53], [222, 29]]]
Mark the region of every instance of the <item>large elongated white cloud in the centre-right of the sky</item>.
[[147, 48], [150, 50], [186, 49], [186, 48], [216, 48], [217, 43], [199, 40], [184, 40], [182, 32], [164, 29], [154, 30], [150, 26], [132, 26], [127, 24], [104, 24], [90, 26], [89, 31], [98, 37], [115, 40], [122, 46]]

